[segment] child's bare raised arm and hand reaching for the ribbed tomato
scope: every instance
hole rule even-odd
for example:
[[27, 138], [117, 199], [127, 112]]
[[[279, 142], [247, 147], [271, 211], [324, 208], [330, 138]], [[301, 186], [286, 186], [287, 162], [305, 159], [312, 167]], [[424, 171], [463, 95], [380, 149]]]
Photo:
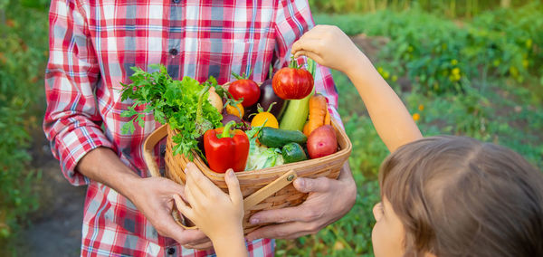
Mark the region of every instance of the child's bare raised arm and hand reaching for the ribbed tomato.
[[314, 27], [294, 43], [292, 54], [306, 55], [320, 65], [347, 74], [366, 104], [377, 133], [391, 152], [423, 138], [402, 100], [338, 27]]

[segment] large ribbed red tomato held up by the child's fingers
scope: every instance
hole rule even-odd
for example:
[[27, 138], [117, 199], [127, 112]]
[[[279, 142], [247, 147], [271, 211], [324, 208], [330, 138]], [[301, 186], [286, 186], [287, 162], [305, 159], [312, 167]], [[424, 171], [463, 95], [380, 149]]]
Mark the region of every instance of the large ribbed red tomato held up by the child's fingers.
[[313, 76], [307, 70], [285, 67], [273, 75], [271, 84], [281, 99], [300, 100], [313, 90]]

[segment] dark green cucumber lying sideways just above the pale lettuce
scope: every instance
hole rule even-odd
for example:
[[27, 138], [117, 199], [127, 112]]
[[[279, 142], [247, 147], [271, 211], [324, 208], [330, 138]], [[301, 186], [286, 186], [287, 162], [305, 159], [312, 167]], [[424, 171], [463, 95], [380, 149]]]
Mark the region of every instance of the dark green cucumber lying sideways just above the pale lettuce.
[[308, 140], [308, 137], [300, 131], [263, 127], [258, 133], [258, 140], [266, 147], [282, 148], [291, 142], [303, 144]]

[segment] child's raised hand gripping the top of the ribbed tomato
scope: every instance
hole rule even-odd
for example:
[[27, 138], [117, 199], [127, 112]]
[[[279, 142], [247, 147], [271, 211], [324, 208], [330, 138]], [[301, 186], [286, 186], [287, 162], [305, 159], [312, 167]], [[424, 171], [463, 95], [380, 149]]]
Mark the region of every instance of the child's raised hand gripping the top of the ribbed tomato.
[[294, 57], [305, 55], [320, 65], [348, 74], [360, 71], [357, 64], [367, 59], [337, 26], [317, 25], [292, 45]]

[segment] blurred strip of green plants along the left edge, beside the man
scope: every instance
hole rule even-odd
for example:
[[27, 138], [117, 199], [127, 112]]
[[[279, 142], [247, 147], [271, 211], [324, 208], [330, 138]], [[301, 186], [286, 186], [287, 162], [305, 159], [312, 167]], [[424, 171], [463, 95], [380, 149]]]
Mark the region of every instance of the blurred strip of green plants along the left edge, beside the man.
[[[10, 10], [5, 13], [5, 9]], [[28, 24], [28, 20], [43, 21]], [[33, 186], [40, 173], [29, 167], [30, 129], [43, 111], [43, 71], [47, 25], [43, 11], [18, 2], [0, 2], [0, 255], [5, 243], [37, 209]]]

